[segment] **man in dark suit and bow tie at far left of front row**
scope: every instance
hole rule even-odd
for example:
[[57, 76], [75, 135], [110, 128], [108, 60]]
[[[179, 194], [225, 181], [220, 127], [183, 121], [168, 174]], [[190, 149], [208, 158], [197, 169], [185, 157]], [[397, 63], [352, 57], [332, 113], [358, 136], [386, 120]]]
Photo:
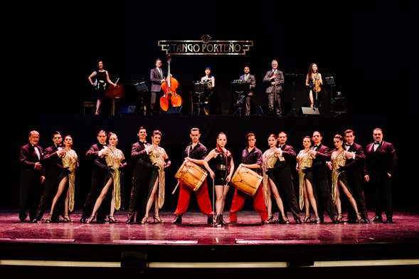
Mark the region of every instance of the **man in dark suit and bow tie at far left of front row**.
[[26, 210], [29, 209], [29, 220], [36, 220], [36, 208], [41, 194], [41, 185], [45, 180], [43, 175], [43, 149], [38, 145], [39, 132], [29, 132], [28, 144], [21, 147], [19, 164], [21, 166], [20, 209], [19, 220], [25, 221]]

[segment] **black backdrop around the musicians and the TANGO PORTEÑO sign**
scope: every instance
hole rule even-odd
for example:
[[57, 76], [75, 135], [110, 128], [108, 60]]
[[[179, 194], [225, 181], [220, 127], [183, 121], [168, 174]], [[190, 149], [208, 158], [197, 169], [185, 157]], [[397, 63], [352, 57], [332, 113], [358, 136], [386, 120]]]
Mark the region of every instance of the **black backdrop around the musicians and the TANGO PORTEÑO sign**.
[[[12, 113], [2, 112], [7, 135], [2, 142], [9, 158], [5, 170], [13, 174], [11, 181], [15, 182], [6, 187], [1, 207], [17, 206], [17, 154], [28, 131], [55, 129], [45, 127], [42, 115], [80, 113], [81, 102], [90, 98], [87, 76], [95, 70], [97, 60], [104, 60], [112, 80], [120, 78], [129, 84], [147, 79], [156, 58], [165, 61], [158, 40], [198, 40], [203, 34], [213, 40], [252, 40], [254, 46], [246, 56], [174, 56], [171, 73], [181, 84], [179, 92], [186, 100], [185, 107], [191, 83], [201, 78], [206, 65], [213, 68], [219, 112], [226, 115], [231, 113], [230, 80], [243, 73], [245, 64], [257, 78], [258, 102], [266, 107], [261, 81], [273, 58], [287, 75], [305, 75], [308, 65], [315, 62], [324, 76], [336, 78], [348, 100], [348, 114], [359, 120], [357, 127], [364, 129], [362, 119], [384, 120], [378, 125], [386, 123], [383, 129], [389, 131], [385, 138], [397, 144], [403, 159], [399, 164], [410, 170], [408, 139], [400, 126], [418, 118], [418, 97], [413, 95], [417, 20], [408, 4], [385, 0], [351, 1], [339, 6], [336, 1], [14, 5], [5, 43], [13, 88], [4, 94], [4, 103]], [[287, 98], [295, 97], [302, 103], [307, 100], [303, 80], [293, 87], [286, 76]], [[363, 142], [371, 139], [369, 128], [365, 127], [368, 132], [361, 135]], [[41, 137], [41, 144], [48, 146], [50, 135]]]

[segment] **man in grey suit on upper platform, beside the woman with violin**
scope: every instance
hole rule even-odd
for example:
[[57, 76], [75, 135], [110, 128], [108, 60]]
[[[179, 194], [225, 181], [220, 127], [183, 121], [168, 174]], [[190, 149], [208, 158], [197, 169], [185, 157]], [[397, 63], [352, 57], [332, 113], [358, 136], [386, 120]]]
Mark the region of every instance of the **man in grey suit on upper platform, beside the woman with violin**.
[[282, 116], [281, 93], [284, 84], [284, 73], [278, 70], [277, 60], [271, 62], [272, 70], [268, 70], [263, 78], [263, 83], [267, 85], [267, 104], [271, 115]]

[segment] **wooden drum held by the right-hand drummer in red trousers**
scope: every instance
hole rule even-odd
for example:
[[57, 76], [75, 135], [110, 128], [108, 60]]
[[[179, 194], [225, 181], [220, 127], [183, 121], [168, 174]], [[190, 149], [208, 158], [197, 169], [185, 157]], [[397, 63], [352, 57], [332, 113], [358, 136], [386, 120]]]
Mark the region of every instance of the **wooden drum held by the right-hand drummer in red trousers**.
[[231, 179], [233, 186], [250, 196], [255, 196], [260, 183], [262, 183], [262, 176], [247, 167], [241, 166], [238, 167]]

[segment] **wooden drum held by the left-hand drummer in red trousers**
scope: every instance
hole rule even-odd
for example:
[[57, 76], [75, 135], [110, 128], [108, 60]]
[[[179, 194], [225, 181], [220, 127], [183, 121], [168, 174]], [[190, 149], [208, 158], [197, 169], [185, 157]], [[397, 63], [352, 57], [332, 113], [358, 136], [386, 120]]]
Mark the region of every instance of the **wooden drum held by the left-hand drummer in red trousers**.
[[205, 181], [207, 173], [197, 164], [193, 162], [184, 161], [178, 169], [174, 177], [179, 179], [192, 191], [198, 191], [203, 181]]

